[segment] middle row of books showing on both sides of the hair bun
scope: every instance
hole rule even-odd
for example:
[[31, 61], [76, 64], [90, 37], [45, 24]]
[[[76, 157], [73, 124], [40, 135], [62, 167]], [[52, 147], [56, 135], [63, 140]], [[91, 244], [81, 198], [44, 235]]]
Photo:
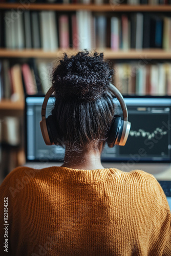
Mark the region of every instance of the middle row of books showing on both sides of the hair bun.
[[[171, 63], [140, 65], [141, 61], [115, 63], [113, 82], [122, 94], [171, 95]], [[15, 64], [0, 62], [0, 99], [24, 100], [24, 95], [46, 94], [51, 87], [53, 62], [31, 60]]]

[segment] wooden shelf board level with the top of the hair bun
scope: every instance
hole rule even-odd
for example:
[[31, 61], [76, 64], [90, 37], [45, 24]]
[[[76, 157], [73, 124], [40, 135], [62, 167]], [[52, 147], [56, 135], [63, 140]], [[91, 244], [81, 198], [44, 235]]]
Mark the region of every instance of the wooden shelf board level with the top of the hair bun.
[[[56, 52], [37, 50], [8, 50], [0, 49], [0, 57], [8, 58], [61, 58], [63, 53], [76, 54], [78, 50], [63, 49]], [[129, 50], [129, 51], [113, 51], [111, 49], [97, 49], [97, 52], [103, 52], [107, 59], [171, 59], [171, 51], [162, 49], [144, 49], [144, 50]]]

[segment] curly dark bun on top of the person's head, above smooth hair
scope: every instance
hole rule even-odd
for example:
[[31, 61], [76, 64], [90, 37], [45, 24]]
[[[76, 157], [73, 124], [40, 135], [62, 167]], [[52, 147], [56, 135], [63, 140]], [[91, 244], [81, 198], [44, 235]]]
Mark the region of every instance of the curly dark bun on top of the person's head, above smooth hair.
[[53, 71], [53, 85], [63, 98], [78, 98], [93, 101], [109, 88], [113, 70], [103, 60], [103, 53], [90, 55], [89, 51], [78, 52], [70, 58], [64, 53], [60, 65]]

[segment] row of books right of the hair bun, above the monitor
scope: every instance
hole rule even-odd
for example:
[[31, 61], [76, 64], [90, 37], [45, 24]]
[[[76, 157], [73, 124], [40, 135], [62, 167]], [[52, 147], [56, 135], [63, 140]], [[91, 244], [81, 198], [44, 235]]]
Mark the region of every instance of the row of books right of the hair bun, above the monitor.
[[117, 63], [114, 84], [122, 94], [171, 95], [171, 63]]

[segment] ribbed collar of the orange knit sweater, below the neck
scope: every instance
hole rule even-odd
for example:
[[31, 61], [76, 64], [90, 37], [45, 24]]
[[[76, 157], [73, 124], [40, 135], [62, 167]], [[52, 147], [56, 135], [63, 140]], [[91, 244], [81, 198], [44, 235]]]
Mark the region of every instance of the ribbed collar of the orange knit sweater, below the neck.
[[113, 179], [121, 174], [121, 171], [116, 168], [84, 170], [52, 166], [47, 169], [48, 173], [51, 172], [51, 176], [59, 181], [80, 184], [98, 183]]

